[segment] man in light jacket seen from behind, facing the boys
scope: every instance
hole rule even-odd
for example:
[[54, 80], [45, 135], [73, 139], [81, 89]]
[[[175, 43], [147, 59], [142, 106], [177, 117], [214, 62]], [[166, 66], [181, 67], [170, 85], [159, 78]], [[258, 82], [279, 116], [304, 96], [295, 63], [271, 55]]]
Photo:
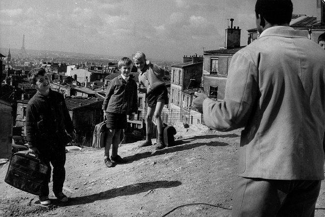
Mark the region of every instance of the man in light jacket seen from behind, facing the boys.
[[257, 0], [260, 37], [238, 51], [225, 98], [196, 93], [215, 130], [244, 128], [234, 217], [312, 217], [324, 179], [325, 52], [289, 26], [291, 0]]

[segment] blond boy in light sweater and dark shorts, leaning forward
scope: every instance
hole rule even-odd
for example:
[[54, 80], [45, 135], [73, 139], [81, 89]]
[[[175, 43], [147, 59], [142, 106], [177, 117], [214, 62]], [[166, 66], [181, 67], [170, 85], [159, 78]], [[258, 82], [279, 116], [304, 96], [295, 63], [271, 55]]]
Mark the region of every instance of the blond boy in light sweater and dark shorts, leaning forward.
[[134, 65], [139, 71], [139, 83], [144, 87], [139, 87], [140, 92], [146, 93], [148, 113], [146, 116], [146, 141], [139, 147], [152, 145], [151, 143], [151, 127], [152, 117], [156, 119], [158, 138], [156, 150], [165, 148], [163, 141], [163, 128], [161, 112], [164, 105], [168, 104], [168, 92], [163, 77], [165, 70], [158, 65], [151, 64], [146, 60], [146, 55], [142, 52], [136, 52], [133, 57]]

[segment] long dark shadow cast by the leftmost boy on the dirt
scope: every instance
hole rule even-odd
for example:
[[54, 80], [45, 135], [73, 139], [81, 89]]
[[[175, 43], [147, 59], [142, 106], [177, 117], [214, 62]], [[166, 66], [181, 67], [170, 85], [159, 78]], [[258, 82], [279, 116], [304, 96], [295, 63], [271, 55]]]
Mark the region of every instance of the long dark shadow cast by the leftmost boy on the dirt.
[[72, 205], [80, 205], [93, 203], [97, 200], [111, 199], [117, 196], [125, 196], [125, 195], [136, 195], [143, 192], [148, 192], [157, 188], [173, 188], [181, 185], [180, 181], [152, 181], [152, 182], [144, 182], [144, 183], [135, 183], [127, 186], [123, 186], [120, 188], [110, 189], [104, 192], [100, 192], [93, 195], [85, 195], [85, 196], [76, 196], [70, 197], [69, 201], [66, 203], [59, 203], [62, 206], [72, 206]]

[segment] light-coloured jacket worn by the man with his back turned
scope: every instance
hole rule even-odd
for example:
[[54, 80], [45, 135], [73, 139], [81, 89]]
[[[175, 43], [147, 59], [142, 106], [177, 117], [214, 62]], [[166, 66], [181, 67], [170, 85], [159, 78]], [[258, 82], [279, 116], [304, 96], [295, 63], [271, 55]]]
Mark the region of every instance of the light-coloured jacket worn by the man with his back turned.
[[232, 57], [224, 100], [203, 101], [207, 126], [244, 127], [240, 176], [324, 179], [325, 52], [305, 36], [270, 29]]

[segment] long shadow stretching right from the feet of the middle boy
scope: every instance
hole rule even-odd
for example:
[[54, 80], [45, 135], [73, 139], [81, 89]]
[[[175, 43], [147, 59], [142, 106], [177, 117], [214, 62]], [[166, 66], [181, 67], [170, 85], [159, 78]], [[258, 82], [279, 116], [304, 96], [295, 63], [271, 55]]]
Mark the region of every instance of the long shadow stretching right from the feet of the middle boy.
[[[186, 139], [187, 140], [187, 139]], [[180, 140], [178, 140], [180, 141]], [[193, 140], [191, 140], [193, 141]], [[229, 145], [228, 143], [225, 142], [217, 142], [217, 141], [211, 141], [211, 142], [199, 142], [199, 143], [188, 143], [190, 141], [186, 141], [187, 144], [180, 145], [177, 144], [173, 147], [168, 147], [162, 150], [157, 150], [155, 152], [142, 152], [142, 153], [136, 153], [134, 155], [126, 156], [124, 159], [126, 160], [125, 164], [132, 163], [133, 161], [136, 160], [141, 160], [147, 157], [151, 156], [157, 156], [165, 153], [172, 153], [172, 152], [181, 152], [184, 150], [189, 150], [189, 149], [194, 149], [200, 146], [227, 146]], [[154, 146], [152, 146], [152, 149], [154, 149]]]

